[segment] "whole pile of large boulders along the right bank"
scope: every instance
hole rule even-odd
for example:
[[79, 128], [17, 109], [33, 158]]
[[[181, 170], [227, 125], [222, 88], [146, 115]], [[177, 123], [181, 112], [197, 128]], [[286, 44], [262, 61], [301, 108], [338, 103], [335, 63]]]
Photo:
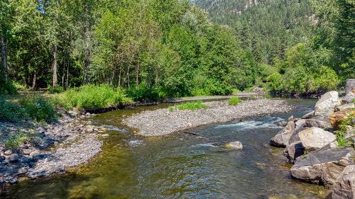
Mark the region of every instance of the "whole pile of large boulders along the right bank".
[[[294, 178], [333, 186], [333, 198], [355, 198], [355, 152], [352, 147], [338, 147], [334, 133], [340, 121], [355, 114], [355, 79], [347, 83], [344, 98], [339, 98], [337, 91], [325, 93], [315, 111], [302, 118], [290, 117], [285, 128], [271, 139], [273, 146], [285, 147], [285, 157], [294, 164], [290, 169]], [[355, 121], [351, 122], [342, 139], [354, 145]]]

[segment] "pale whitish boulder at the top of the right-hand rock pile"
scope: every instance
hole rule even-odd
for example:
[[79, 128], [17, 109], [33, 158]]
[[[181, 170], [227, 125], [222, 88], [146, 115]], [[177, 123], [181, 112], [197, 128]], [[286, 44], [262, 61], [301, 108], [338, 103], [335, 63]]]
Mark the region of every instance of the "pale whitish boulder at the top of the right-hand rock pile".
[[329, 91], [322, 95], [319, 101], [315, 104], [315, 116], [330, 115], [334, 112], [335, 106], [339, 105], [339, 96], [337, 91]]

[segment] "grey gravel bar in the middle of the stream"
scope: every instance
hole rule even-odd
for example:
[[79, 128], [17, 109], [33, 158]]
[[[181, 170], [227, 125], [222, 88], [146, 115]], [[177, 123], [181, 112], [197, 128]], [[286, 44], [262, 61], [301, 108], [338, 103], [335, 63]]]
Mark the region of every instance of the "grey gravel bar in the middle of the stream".
[[204, 103], [209, 108], [199, 110], [175, 110], [169, 108], [146, 111], [132, 115], [123, 123], [138, 130], [138, 135], [159, 136], [190, 129], [200, 125], [225, 123], [253, 116], [287, 113], [292, 106], [283, 100], [257, 99], [229, 106], [226, 101]]

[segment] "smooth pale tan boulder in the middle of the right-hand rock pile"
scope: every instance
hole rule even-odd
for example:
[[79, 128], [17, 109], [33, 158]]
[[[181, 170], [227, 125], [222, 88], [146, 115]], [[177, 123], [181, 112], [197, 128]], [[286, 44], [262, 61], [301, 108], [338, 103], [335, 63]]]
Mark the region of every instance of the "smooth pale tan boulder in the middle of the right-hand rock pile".
[[327, 132], [319, 127], [310, 127], [302, 130], [298, 133], [298, 137], [300, 137], [303, 147], [308, 152], [320, 149], [337, 140], [337, 137], [332, 132]]

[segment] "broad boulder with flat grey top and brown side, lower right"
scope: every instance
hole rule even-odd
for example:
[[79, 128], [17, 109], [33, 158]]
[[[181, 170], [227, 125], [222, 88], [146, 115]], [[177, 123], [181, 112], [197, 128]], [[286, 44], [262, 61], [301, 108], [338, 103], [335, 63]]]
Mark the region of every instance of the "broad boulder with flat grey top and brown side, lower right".
[[291, 168], [294, 178], [333, 185], [346, 166], [354, 164], [354, 149], [329, 145], [298, 157]]

